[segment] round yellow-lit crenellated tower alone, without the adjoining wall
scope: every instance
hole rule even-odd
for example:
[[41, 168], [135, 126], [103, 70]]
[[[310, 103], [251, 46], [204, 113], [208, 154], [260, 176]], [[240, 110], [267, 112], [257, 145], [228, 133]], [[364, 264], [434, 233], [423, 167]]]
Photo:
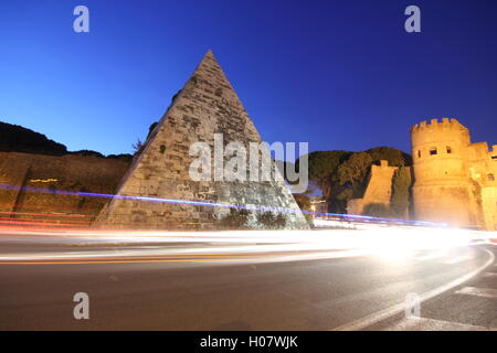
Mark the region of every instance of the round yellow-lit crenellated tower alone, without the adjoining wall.
[[480, 224], [468, 165], [468, 129], [456, 119], [432, 119], [411, 129], [411, 141], [415, 217], [457, 226]]

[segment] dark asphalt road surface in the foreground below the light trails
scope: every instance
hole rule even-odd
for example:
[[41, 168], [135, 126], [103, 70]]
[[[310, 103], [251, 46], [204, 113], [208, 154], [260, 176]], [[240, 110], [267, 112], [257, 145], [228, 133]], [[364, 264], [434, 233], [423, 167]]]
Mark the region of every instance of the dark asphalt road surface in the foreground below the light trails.
[[[144, 255], [162, 246], [180, 255]], [[304, 257], [255, 250], [188, 255], [192, 247], [209, 246], [99, 244], [80, 245], [75, 252], [67, 245], [1, 240], [0, 330], [497, 328], [493, 245], [404, 256], [334, 258], [311, 250], [298, 254]], [[123, 255], [124, 248], [135, 255]], [[67, 253], [76, 258], [57, 258]], [[80, 258], [104, 253], [115, 256]], [[28, 261], [23, 256], [30, 254], [50, 256]], [[73, 317], [76, 292], [89, 296], [88, 320]], [[422, 319], [405, 319], [402, 308], [410, 293], [433, 295], [421, 303]]]

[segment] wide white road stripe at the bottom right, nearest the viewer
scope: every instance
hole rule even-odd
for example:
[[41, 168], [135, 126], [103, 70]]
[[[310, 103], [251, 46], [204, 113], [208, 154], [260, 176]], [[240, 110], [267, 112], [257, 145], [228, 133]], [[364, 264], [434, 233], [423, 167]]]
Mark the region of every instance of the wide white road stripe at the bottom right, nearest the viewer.
[[410, 318], [403, 319], [383, 329], [383, 331], [497, 331], [497, 328], [485, 328], [426, 318]]

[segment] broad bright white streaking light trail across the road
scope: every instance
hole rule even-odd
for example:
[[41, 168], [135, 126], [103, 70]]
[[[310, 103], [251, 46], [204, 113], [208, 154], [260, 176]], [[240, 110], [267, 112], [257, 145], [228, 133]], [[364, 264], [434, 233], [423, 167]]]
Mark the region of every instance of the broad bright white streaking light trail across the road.
[[[356, 231], [124, 232], [29, 231], [0, 227], [0, 242], [57, 244], [65, 250], [0, 253], [0, 265], [125, 263], [253, 264], [373, 256], [404, 263], [430, 259], [488, 236], [484, 232], [363, 225]], [[121, 245], [116, 247], [117, 245]], [[182, 244], [182, 246], [178, 246]], [[84, 245], [84, 247], [81, 247]], [[101, 245], [101, 246], [96, 246]], [[172, 245], [172, 246], [171, 246]], [[110, 246], [110, 247], [109, 247]], [[62, 249], [62, 247], [61, 247]], [[426, 253], [431, 252], [431, 253]]]

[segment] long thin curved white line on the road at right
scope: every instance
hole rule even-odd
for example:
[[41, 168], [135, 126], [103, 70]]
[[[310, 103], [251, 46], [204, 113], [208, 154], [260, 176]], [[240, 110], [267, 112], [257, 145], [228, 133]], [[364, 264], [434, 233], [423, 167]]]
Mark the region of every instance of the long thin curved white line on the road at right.
[[[426, 301], [429, 299], [432, 299], [432, 298], [434, 298], [436, 296], [442, 295], [443, 292], [445, 292], [447, 290], [451, 290], [451, 289], [453, 289], [455, 287], [461, 286], [465, 281], [472, 279], [473, 277], [478, 275], [480, 271], [483, 271], [485, 268], [490, 266], [495, 261], [495, 255], [491, 252], [487, 250], [487, 249], [485, 249], [485, 252], [490, 255], [490, 258], [484, 265], [482, 265], [477, 269], [475, 269], [475, 270], [473, 270], [473, 271], [470, 271], [470, 272], [468, 272], [468, 274], [466, 274], [466, 275], [464, 275], [464, 276], [462, 276], [459, 278], [456, 278], [455, 280], [453, 280], [453, 281], [444, 285], [444, 286], [441, 286], [438, 288], [435, 288], [433, 290], [430, 290], [427, 292], [424, 292], [424, 293], [420, 295], [420, 302]], [[351, 321], [349, 323], [342, 324], [342, 325], [340, 325], [338, 328], [331, 329], [330, 331], [358, 331], [358, 330], [362, 330], [362, 329], [364, 329], [367, 327], [370, 327], [370, 325], [372, 325], [372, 324], [374, 324], [377, 322], [380, 322], [380, 321], [382, 321], [384, 319], [388, 319], [388, 318], [390, 318], [390, 317], [392, 317], [394, 314], [398, 314], [398, 313], [400, 313], [400, 312], [402, 312], [404, 310], [405, 310], [405, 303], [404, 302], [400, 302], [400, 303], [398, 303], [395, 306], [392, 306], [390, 308], [387, 308], [387, 309], [383, 309], [383, 310], [379, 310], [379, 311], [377, 311], [377, 312], [374, 312], [374, 313], [372, 313], [370, 315], [363, 317], [361, 319], [358, 319], [358, 320]]]

